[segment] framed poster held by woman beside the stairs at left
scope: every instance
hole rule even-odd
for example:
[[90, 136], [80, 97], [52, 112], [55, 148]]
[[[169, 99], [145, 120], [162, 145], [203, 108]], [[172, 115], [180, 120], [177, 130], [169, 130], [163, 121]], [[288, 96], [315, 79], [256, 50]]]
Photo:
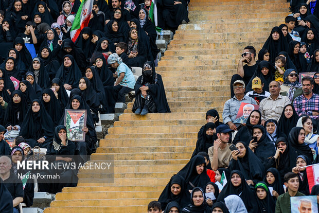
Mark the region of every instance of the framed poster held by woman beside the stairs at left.
[[64, 126], [66, 127], [66, 136], [72, 141], [85, 141], [86, 110], [67, 110], [64, 112]]

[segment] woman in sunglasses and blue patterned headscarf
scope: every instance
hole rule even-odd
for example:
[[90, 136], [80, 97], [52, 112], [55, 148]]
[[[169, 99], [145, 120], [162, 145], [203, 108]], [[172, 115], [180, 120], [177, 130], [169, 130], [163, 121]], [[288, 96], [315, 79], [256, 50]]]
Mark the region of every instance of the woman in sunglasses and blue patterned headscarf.
[[280, 95], [288, 96], [290, 101], [303, 94], [303, 85], [298, 81], [295, 69], [287, 69], [283, 74], [283, 84], [280, 86]]

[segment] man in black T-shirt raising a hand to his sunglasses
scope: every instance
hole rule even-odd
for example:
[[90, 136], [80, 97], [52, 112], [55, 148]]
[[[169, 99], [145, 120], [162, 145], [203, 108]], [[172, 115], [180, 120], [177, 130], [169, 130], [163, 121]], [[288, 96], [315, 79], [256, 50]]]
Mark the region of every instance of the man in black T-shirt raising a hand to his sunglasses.
[[[245, 85], [249, 83], [257, 68], [255, 62], [256, 49], [253, 46], [246, 46], [237, 67], [237, 75], [243, 78]], [[246, 63], [243, 65], [243, 63]]]

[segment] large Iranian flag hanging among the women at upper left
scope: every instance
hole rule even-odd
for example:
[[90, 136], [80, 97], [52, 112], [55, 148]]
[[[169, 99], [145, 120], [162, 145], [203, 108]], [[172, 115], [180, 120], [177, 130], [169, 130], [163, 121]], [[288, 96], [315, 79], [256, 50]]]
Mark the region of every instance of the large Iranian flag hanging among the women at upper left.
[[81, 30], [87, 27], [93, 7], [93, 0], [83, 0], [72, 24], [70, 36], [73, 42], [77, 40]]

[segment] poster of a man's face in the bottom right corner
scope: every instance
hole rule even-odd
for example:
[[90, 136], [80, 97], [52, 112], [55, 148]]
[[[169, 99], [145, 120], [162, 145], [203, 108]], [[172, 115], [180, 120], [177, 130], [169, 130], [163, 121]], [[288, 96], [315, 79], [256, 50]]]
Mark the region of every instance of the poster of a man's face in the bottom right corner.
[[290, 198], [291, 213], [318, 213], [317, 196], [299, 196]]

